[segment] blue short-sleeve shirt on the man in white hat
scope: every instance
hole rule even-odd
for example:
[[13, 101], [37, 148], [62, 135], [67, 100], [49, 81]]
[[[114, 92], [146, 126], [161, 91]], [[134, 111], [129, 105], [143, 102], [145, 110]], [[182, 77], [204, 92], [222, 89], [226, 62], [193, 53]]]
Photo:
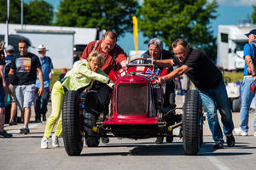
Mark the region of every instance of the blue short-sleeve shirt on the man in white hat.
[[[38, 56], [38, 59], [41, 63], [41, 68], [42, 68], [42, 73], [43, 73], [43, 77], [44, 77], [44, 88], [49, 87], [49, 72], [51, 71], [51, 69], [53, 69], [53, 65], [51, 62], [51, 59], [49, 59], [48, 56], [44, 56], [44, 60], [41, 59], [40, 56]], [[39, 81], [39, 78], [37, 76], [37, 81], [36, 81], [36, 88], [40, 88], [41, 84]]]

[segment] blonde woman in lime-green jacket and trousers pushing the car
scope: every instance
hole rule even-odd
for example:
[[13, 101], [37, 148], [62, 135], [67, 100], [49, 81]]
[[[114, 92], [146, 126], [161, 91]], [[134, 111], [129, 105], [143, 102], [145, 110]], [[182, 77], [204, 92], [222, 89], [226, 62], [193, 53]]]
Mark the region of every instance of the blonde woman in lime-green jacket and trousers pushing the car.
[[57, 120], [59, 122], [55, 129], [55, 134], [52, 135], [52, 145], [53, 147], [59, 146], [58, 137], [62, 133], [62, 118], [60, 117], [62, 100], [66, 90], [88, 90], [94, 81], [103, 82], [110, 88], [113, 87], [113, 83], [110, 82], [107, 74], [100, 69], [103, 64], [103, 55], [94, 51], [90, 53], [87, 59], [76, 62], [73, 65], [73, 69], [68, 71], [67, 75], [62, 79], [62, 83], [55, 82], [51, 93], [52, 112], [46, 123], [44, 137], [41, 140], [42, 149], [48, 148], [49, 136]]

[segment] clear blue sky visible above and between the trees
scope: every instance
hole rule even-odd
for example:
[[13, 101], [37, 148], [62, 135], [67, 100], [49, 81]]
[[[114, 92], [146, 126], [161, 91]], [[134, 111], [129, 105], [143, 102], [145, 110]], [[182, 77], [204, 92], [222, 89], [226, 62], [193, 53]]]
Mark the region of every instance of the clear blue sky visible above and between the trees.
[[[140, 0], [141, 2], [142, 0]], [[208, 0], [211, 2], [212, 0]], [[60, 0], [46, 0], [51, 3], [55, 10], [57, 9]], [[256, 0], [217, 0], [219, 14], [216, 20], [212, 20], [211, 26], [214, 31], [214, 36], [217, 36], [218, 25], [237, 25], [239, 20], [246, 20], [247, 14], [253, 13], [253, 5], [256, 5]], [[147, 45], [144, 44], [143, 34], [138, 35], [138, 49], [146, 50]], [[124, 48], [125, 53], [129, 53], [130, 50], [134, 49], [133, 37], [131, 33], [125, 34], [125, 37], [119, 38], [119, 45]]]

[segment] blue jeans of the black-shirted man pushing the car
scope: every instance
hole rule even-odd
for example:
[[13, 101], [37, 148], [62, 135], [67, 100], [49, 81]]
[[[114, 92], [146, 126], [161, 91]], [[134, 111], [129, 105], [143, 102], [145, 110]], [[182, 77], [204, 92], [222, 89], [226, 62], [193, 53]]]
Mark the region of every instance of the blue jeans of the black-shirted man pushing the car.
[[224, 81], [220, 82], [216, 88], [207, 90], [196, 88], [196, 90], [199, 92], [201, 101], [207, 110], [207, 121], [212, 132], [212, 139], [214, 141], [223, 141], [223, 133], [218, 123], [217, 108], [221, 115], [224, 133], [230, 134], [234, 129], [230, 100], [228, 99]]

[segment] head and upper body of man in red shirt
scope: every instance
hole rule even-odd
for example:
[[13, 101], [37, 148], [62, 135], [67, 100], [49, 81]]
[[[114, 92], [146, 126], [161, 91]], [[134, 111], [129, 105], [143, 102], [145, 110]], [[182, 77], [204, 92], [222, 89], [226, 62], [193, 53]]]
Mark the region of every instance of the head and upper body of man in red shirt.
[[84, 49], [82, 58], [86, 59], [93, 50], [104, 54], [104, 65], [102, 66], [102, 71], [109, 74], [111, 69], [117, 70], [119, 66], [126, 65], [125, 52], [116, 44], [116, 42], [117, 34], [113, 31], [107, 31], [102, 40], [88, 43]]

